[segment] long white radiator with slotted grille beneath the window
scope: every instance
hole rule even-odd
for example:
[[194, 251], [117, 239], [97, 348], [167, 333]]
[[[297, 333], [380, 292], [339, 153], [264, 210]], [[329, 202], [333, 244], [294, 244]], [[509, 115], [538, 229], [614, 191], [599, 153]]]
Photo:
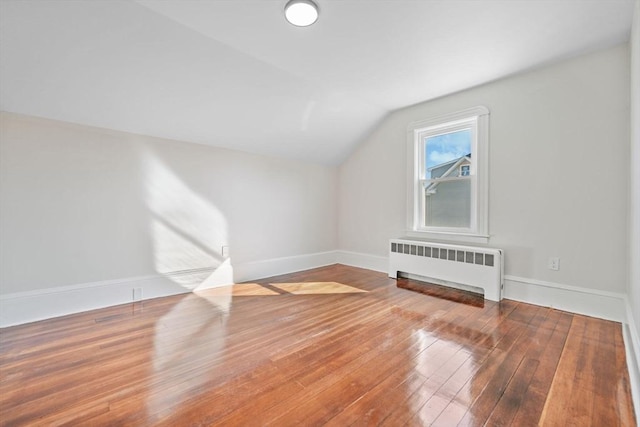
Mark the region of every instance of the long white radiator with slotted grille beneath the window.
[[399, 273], [441, 285], [480, 288], [485, 299], [502, 299], [504, 262], [501, 249], [445, 245], [410, 239], [389, 241], [389, 277]]

